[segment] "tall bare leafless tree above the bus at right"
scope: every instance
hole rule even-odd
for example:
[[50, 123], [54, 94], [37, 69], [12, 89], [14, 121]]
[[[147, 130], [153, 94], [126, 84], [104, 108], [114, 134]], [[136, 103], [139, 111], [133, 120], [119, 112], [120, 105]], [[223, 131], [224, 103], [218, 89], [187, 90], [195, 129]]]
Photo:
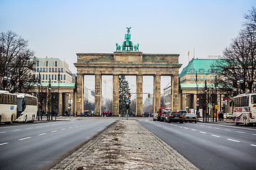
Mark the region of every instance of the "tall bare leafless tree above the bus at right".
[[247, 21], [237, 38], [226, 47], [218, 62], [222, 89], [229, 96], [256, 91], [256, 8], [245, 16]]

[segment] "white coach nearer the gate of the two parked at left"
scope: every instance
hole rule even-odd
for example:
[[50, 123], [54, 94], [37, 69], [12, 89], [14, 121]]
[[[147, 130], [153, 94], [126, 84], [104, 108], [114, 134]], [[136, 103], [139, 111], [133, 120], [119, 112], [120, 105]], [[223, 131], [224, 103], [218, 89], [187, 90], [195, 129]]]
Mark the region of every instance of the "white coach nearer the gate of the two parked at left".
[[36, 119], [38, 100], [30, 94], [17, 94], [17, 122], [33, 122]]

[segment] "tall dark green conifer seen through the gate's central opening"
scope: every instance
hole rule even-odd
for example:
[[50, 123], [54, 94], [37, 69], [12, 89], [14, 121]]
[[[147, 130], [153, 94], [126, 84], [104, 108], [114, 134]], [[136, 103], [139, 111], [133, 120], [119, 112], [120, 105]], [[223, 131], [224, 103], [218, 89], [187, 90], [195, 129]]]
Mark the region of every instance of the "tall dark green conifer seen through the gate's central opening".
[[129, 105], [131, 103], [131, 93], [129, 83], [124, 76], [119, 77], [119, 113], [126, 113], [126, 96], [129, 95]]

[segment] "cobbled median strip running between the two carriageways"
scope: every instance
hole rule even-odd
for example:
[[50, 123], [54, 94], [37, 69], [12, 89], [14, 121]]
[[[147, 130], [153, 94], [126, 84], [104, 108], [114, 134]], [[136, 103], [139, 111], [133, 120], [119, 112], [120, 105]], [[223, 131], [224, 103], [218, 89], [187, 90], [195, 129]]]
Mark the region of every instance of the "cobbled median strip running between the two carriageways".
[[137, 120], [118, 120], [56, 169], [197, 169]]

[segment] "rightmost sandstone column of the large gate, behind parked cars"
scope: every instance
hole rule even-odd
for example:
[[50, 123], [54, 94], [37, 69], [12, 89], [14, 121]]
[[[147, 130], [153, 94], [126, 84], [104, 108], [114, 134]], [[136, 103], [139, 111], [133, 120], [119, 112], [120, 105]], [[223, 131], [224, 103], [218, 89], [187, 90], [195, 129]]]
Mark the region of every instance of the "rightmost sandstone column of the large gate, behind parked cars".
[[[179, 94], [178, 94], [178, 75], [171, 76], [171, 90], [172, 90], [172, 111], [178, 111], [181, 108], [179, 107]], [[177, 96], [175, 95], [177, 94]]]

